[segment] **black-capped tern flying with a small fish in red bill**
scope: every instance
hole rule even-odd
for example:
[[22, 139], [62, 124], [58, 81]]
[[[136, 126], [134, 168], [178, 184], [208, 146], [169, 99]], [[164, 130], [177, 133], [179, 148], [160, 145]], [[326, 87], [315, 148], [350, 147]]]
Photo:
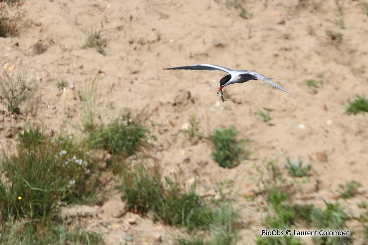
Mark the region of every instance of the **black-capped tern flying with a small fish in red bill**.
[[[163, 68], [163, 70], [208, 70], [208, 71], [224, 71], [227, 73], [226, 76], [220, 79], [220, 86], [217, 90], [217, 95], [219, 95], [219, 92], [222, 91], [223, 88], [230, 84], [242, 84], [244, 82], [247, 82], [249, 80], [262, 80], [268, 83], [269, 85], [273, 86], [274, 88], [280, 89], [286, 93], [290, 93], [293, 95], [293, 93], [287, 91], [282, 86], [275, 84], [274, 82], [271, 82], [270, 79], [276, 79], [276, 78], [267, 78], [262, 74], [259, 74], [255, 71], [248, 71], [248, 70], [231, 70], [227, 67], [223, 67], [220, 65], [213, 65], [213, 64], [195, 64], [195, 65], [185, 65], [185, 66], [179, 66], [179, 67], [171, 67], [171, 68]], [[220, 93], [221, 95], [221, 93]]]

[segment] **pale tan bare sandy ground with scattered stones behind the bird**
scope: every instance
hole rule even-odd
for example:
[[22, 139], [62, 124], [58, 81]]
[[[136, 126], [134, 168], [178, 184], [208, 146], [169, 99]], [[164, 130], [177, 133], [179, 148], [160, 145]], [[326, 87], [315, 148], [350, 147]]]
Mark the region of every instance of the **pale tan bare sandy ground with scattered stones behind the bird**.
[[[243, 244], [254, 244], [255, 231], [260, 230], [261, 213], [242, 196], [255, 188], [251, 167], [263, 164], [265, 158], [283, 164], [286, 156], [296, 160], [300, 155], [310, 162], [309, 189], [316, 183], [320, 188], [313, 193], [304, 190], [310, 203], [333, 200], [338, 185], [350, 180], [363, 184], [357, 200], [367, 199], [367, 115], [343, 113], [347, 100], [368, 94], [368, 17], [359, 1], [342, 1], [343, 29], [336, 24], [340, 17], [333, 0], [247, 0], [242, 2], [251, 14], [247, 19], [229, 3], [26, 0], [18, 36], [0, 38], [0, 62], [22, 60], [27, 76], [37, 79], [39, 89], [33, 102], [21, 104], [22, 115], [17, 119], [1, 105], [1, 147], [6, 149], [17, 127], [28, 123], [77, 132], [75, 126], [81, 124], [77, 91], [89, 86], [99, 72], [96, 111], [104, 122], [119, 117], [125, 108], [138, 111], [148, 105], [151, 120], [158, 124], [153, 154], [165, 171], [177, 171], [188, 180], [198, 178], [208, 187], [230, 180], [239, 194], [244, 220], [258, 220], [242, 230]], [[106, 56], [84, 47], [88, 32], [99, 30], [101, 23], [108, 38]], [[342, 33], [342, 42], [332, 40], [328, 31]], [[275, 82], [295, 95], [250, 81], [226, 87], [227, 102], [222, 104], [216, 92], [223, 72], [160, 70], [200, 63], [279, 78]], [[74, 88], [59, 90], [55, 84], [63, 79]], [[317, 93], [305, 85], [306, 79], [323, 81]], [[274, 109], [272, 124], [254, 114], [262, 107]], [[212, 160], [209, 142], [183, 147], [181, 127], [193, 114], [206, 135], [235, 125], [239, 139], [250, 139], [250, 159], [227, 170]], [[110, 200], [112, 205], [124, 205], [115, 195]], [[347, 212], [358, 215], [355, 203], [355, 199], [348, 203]], [[92, 213], [101, 209], [89, 208]], [[95, 218], [88, 218], [86, 227], [102, 231], [107, 244], [125, 242], [127, 235], [145, 229], [156, 236], [162, 232], [163, 239], [173, 234], [172, 228], [141, 217], [130, 217], [129, 223], [125, 215], [100, 219], [92, 215]]]

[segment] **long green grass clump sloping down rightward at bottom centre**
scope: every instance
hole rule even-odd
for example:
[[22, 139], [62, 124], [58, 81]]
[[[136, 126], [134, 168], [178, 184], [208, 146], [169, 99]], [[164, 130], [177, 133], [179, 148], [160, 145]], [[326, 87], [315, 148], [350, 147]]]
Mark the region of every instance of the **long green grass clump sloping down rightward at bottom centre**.
[[158, 166], [147, 168], [138, 164], [125, 171], [119, 189], [123, 191], [122, 198], [128, 210], [151, 213], [167, 225], [187, 227], [188, 230], [208, 229], [214, 219], [212, 209], [195, 193], [194, 186], [184, 191], [177, 179], [166, 177], [163, 181]]

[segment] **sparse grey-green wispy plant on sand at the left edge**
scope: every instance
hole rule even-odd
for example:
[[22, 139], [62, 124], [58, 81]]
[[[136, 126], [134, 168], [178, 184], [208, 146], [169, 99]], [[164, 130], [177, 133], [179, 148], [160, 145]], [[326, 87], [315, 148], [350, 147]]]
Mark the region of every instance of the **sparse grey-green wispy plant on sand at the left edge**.
[[20, 104], [28, 100], [37, 89], [34, 80], [27, 82], [24, 78], [21, 64], [16, 69], [14, 73], [5, 70], [0, 75], [0, 102], [7, 105], [11, 114], [20, 113]]

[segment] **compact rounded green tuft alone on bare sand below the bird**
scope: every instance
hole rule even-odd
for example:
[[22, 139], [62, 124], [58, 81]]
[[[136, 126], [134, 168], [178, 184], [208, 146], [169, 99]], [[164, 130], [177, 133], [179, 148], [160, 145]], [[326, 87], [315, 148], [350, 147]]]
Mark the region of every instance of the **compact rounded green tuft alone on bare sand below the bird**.
[[213, 159], [224, 168], [233, 168], [239, 165], [240, 160], [247, 157], [242, 145], [247, 141], [237, 141], [237, 131], [234, 126], [228, 129], [216, 129], [211, 135], [215, 150]]

